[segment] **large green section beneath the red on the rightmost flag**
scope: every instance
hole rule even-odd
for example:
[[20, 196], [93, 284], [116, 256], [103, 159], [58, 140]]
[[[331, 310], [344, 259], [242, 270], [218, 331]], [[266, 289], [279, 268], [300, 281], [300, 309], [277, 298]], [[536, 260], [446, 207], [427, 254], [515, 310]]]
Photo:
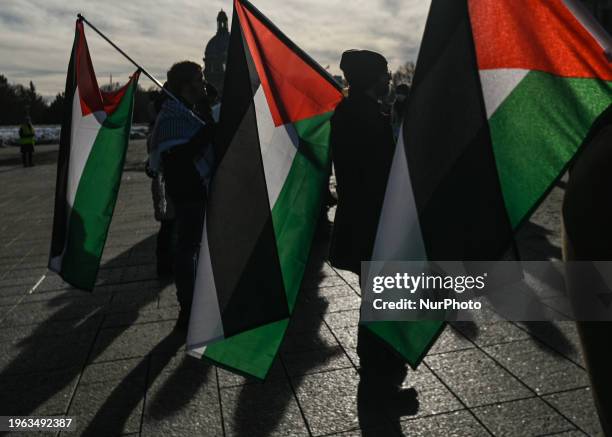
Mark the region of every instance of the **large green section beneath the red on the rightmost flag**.
[[564, 171], [611, 99], [612, 83], [531, 71], [492, 115], [493, 150], [514, 228]]

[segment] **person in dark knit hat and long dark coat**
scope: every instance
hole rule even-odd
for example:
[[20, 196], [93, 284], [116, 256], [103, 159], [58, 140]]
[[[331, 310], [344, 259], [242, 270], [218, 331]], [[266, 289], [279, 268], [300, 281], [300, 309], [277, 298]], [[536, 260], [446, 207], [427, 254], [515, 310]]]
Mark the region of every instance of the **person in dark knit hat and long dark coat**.
[[[349, 50], [340, 69], [349, 84], [348, 96], [331, 118], [330, 144], [336, 172], [338, 207], [329, 259], [334, 267], [360, 275], [361, 261], [371, 259], [378, 219], [395, 149], [391, 119], [381, 112], [389, 93], [384, 56]], [[359, 327], [360, 393], [379, 405], [399, 392], [406, 365], [382, 340]]]

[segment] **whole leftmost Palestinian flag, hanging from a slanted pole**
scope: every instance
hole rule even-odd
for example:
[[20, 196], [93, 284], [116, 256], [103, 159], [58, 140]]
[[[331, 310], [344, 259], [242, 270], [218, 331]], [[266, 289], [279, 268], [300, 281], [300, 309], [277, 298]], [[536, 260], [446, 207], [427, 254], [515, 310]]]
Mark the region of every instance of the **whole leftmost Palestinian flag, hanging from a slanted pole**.
[[92, 290], [113, 216], [130, 135], [139, 73], [101, 92], [83, 22], [77, 21], [60, 137], [49, 269]]

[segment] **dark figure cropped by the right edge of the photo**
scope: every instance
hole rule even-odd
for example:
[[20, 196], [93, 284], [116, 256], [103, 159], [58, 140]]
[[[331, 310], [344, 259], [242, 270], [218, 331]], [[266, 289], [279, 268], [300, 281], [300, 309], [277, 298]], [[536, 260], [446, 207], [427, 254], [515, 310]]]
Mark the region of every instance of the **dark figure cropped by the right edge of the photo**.
[[[593, 126], [570, 171], [565, 199], [565, 258], [612, 260], [612, 106]], [[574, 286], [572, 300], [580, 299]], [[577, 322], [593, 396], [605, 435], [612, 435], [612, 322]]]

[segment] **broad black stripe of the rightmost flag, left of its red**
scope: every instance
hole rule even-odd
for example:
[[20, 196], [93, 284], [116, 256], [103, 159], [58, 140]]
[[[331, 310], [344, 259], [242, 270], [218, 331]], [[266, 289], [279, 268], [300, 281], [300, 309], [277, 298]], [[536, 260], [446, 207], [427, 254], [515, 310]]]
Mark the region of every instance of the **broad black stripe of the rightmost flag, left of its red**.
[[512, 243], [467, 0], [433, 0], [404, 143], [427, 256], [498, 259]]

